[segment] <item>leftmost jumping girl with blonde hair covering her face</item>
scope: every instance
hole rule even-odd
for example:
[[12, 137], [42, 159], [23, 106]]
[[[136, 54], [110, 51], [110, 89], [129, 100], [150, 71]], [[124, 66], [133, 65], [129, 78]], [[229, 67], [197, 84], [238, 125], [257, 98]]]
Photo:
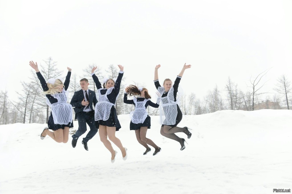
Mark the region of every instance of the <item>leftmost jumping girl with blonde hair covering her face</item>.
[[[41, 133], [41, 139], [48, 135], [58, 143], [67, 143], [69, 128], [73, 127], [72, 106], [67, 103], [71, 68], [67, 67], [68, 73], [65, 82], [61, 78], [51, 78], [46, 81], [39, 71], [37, 63], [29, 61], [29, 65], [36, 71], [44, 90], [42, 93], [46, 95], [47, 104], [52, 110], [48, 119], [48, 127], [45, 127]], [[53, 132], [48, 129], [53, 130]]]

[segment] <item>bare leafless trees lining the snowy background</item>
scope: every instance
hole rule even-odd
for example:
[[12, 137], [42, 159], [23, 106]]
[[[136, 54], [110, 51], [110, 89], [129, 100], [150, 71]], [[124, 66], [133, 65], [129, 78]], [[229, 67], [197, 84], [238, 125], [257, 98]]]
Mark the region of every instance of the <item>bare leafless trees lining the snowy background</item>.
[[[44, 62], [45, 65], [41, 66], [40, 71], [46, 80], [60, 76], [65, 72], [58, 70], [56, 63], [51, 57], [44, 60]], [[95, 83], [90, 76], [91, 69], [94, 66], [95, 64], [88, 65], [83, 70], [84, 74], [82, 77], [72, 73], [69, 86], [69, 102], [74, 92], [80, 89], [79, 80], [81, 78], [87, 78], [90, 82], [89, 89], [96, 91]], [[196, 98], [194, 93], [187, 96], [181, 95], [179, 97], [180, 108], [185, 115], [200, 115], [220, 110], [289, 109], [289, 104], [292, 103], [291, 82], [287, 79], [286, 75], [282, 75], [277, 80], [274, 88], [276, 93], [272, 97], [265, 95], [266, 98], [264, 100], [260, 99], [265, 94], [264, 91], [261, 91], [265, 84], [262, 79], [268, 71], [265, 70], [258, 74], [255, 79], [251, 78], [248, 85], [250, 89], [246, 92], [240, 90], [237, 84], [228, 77], [226, 85], [222, 90], [216, 85], [203, 99]], [[115, 65], [109, 65], [105, 72], [106, 74], [102, 74], [100, 67], [95, 71], [95, 74], [101, 79], [100, 82], [102, 82], [103, 77], [118, 76], [118, 68]], [[7, 91], [0, 91], [0, 124], [46, 123], [48, 120], [51, 110], [46, 104], [45, 96], [41, 94], [42, 88], [34, 71], [31, 71], [29, 78], [29, 81], [21, 82], [22, 90], [17, 92], [17, 101], [11, 101]], [[124, 104], [123, 102], [125, 78], [123, 77], [122, 79], [120, 95], [116, 102], [118, 115], [129, 114], [134, 109], [133, 105]], [[150, 115], [159, 115], [158, 108], [148, 106], [147, 111]]]

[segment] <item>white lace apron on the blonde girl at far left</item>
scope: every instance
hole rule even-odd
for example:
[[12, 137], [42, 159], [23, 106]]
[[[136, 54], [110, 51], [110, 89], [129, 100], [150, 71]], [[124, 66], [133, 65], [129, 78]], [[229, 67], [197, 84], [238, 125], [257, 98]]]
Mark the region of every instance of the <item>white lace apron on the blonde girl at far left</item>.
[[69, 122], [72, 123], [72, 106], [71, 104], [67, 103], [68, 93], [68, 91], [63, 90], [60, 93], [51, 95], [58, 100], [58, 102], [53, 104], [51, 104], [47, 98], [47, 104], [52, 109], [52, 115], [55, 124], [69, 124]]

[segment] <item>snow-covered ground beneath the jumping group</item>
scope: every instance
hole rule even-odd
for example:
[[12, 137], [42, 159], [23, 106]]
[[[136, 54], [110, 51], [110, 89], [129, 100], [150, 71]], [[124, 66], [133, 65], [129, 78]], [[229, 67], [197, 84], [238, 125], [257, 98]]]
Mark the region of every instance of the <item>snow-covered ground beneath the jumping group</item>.
[[[115, 163], [97, 134], [86, 151], [39, 135], [45, 124], [0, 126], [0, 193], [273, 193], [292, 189], [292, 111], [218, 111], [186, 115], [178, 125], [192, 128], [186, 149], [160, 135], [152, 116], [147, 137], [161, 147], [142, 155], [128, 115], [119, 115], [116, 133], [128, 159], [118, 150]], [[78, 122], [74, 121], [74, 128]], [[84, 137], [85, 135], [81, 136]]]

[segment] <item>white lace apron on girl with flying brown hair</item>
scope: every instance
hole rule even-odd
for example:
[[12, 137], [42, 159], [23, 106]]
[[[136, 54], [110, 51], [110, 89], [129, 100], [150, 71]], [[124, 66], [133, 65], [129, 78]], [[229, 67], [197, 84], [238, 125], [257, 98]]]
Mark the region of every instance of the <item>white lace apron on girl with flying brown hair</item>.
[[131, 121], [135, 124], [143, 123], [147, 118], [147, 111], [145, 108], [145, 104], [149, 99], [144, 99], [144, 101], [137, 102], [137, 98], [134, 97], [133, 101], [135, 103], [135, 110], [131, 111], [130, 117]]

